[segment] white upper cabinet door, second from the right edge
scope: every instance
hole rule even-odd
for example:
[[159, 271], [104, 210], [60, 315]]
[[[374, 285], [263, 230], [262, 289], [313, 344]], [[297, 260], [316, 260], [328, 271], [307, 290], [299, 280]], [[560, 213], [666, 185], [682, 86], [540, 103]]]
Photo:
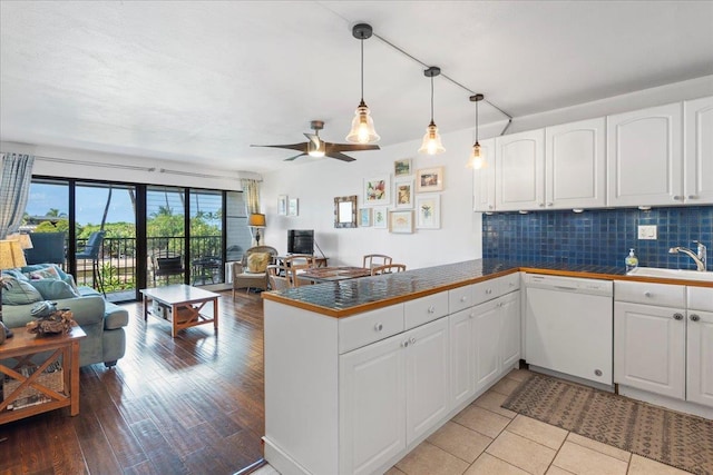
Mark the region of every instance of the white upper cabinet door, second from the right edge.
[[607, 117], [607, 206], [683, 204], [682, 103]]

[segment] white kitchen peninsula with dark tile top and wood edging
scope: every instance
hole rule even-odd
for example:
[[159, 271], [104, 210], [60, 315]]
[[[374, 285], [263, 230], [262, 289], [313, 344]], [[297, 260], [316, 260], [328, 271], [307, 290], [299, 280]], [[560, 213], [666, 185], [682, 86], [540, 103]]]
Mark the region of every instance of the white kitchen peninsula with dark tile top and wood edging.
[[518, 367], [520, 271], [665, 283], [477, 259], [265, 293], [265, 459], [283, 474], [387, 471]]

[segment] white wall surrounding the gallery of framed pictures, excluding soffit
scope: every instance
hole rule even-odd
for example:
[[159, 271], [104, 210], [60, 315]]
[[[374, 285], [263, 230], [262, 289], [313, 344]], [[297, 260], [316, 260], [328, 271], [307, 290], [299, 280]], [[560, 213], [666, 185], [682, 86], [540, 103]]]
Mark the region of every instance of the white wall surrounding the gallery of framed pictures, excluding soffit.
[[[419, 140], [384, 150], [351, 154], [356, 158], [352, 162], [304, 157], [283, 170], [266, 174], [261, 188], [262, 206], [267, 215], [265, 243], [285, 253], [287, 229], [314, 229], [316, 243], [330, 258], [330, 265], [361, 266], [362, 256], [371, 253], [392, 256], [407, 268], [480, 257], [481, 220], [479, 214], [472, 212], [472, 170], [466, 168], [471, 132], [448, 133], [443, 136], [443, 145], [447, 151], [438, 156], [417, 154]], [[356, 195], [358, 207], [362, 207], [363, 179], [389, 175], [393, 185], [393, 162], [403, 158], [412, 159], [414, 170], [446, 168], [440, 191], [441, 229], [416, 229], [404, 235], [373, 227], [334, 228], [334, 198]], [[279, 195], [300, 199], [297, 217], [277, 216]]]

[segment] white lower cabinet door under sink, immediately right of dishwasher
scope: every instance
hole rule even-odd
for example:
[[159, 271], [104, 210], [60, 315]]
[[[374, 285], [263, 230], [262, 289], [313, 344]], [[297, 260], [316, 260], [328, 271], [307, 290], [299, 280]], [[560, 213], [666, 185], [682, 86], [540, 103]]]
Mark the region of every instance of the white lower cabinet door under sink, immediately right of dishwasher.
[[684, 398], [684, 310], [614, 304], [614, 382]]

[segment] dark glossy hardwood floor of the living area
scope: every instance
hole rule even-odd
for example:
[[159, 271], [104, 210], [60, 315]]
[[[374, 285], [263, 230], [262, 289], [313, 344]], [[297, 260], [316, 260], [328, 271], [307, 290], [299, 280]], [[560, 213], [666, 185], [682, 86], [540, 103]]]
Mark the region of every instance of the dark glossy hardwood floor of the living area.
[[217, 336], [203, 325], [174, 339], [126, 305], [126, 356], [81, 368], [78, 416], [0, 426], [0, 473], [233, 474], [262, 458], [262, 299], [221, 295]]

